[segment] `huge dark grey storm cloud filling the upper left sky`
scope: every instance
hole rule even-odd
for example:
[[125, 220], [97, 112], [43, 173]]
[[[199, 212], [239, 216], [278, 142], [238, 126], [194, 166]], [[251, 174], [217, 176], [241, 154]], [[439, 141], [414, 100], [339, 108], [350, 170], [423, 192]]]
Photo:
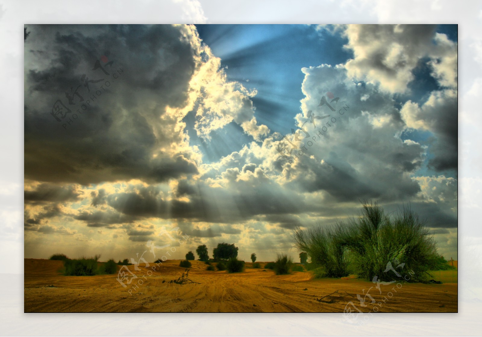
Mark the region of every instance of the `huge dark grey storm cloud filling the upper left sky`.
[[[174, 132], [176, 121], [165, 116], [167, 106], [186, 104], [196, 67], [195, 51], [181, 28], [37, 25], [30, 30], [33, 39], [25, 44], [27, 178], [81, 184], [130, 178], [161, 182], [197, 172], [190, 153], [152, 156], [158, 148], [183, 140]], [[92, 70], [101, 56], [113, 62], [107, 66], [100, 61], [109, 75]], [[88, 83], [89, 92], [80, 81], [83, 74], [90, 81], [103, 80]], [[73, 95], [79, 85], [82, 102]], [[101, 94], [92, 99], [97, 91]], [[50, 114], [58, 99], [73, 110], [60, 122]], [[83, 111], [87, 100], [90, 105]], [[64, 129], [74, 113], [75, 121]]]

